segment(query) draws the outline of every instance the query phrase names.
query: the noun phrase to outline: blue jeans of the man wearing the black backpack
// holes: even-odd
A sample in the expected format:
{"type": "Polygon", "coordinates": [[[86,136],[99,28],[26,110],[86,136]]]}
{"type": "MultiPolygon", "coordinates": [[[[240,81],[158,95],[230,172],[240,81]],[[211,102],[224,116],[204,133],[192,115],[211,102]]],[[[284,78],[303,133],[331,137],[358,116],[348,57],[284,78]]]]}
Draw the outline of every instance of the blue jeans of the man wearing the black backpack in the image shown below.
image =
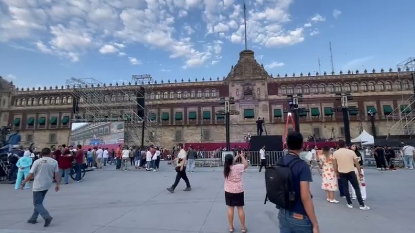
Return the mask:
{"type": "Polygon", "coordinates": [[[293,212],[280,209],[278,212],[280,233],[312,233],[313,224],[307,216],[302,219],[294,218],[293,212]]]}

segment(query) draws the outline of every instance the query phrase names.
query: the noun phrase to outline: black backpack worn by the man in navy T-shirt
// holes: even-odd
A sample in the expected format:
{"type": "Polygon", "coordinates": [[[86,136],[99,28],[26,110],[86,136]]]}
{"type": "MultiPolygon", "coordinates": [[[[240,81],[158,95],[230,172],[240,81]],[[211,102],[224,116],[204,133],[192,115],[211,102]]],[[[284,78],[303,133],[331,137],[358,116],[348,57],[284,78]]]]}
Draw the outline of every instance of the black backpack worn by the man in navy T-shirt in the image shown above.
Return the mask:
{"type": "Polygon", "coordinates": [[[296,193],[293,190],[293,180],[291,168],[302,160],[296,156],[288,164],[284,164],[284,157],[278,159],[277,166],[268,167],[265,169],[265,186],[267,200],[277,205],[277,208],[290,210],[296,198],[296,193]]]}

